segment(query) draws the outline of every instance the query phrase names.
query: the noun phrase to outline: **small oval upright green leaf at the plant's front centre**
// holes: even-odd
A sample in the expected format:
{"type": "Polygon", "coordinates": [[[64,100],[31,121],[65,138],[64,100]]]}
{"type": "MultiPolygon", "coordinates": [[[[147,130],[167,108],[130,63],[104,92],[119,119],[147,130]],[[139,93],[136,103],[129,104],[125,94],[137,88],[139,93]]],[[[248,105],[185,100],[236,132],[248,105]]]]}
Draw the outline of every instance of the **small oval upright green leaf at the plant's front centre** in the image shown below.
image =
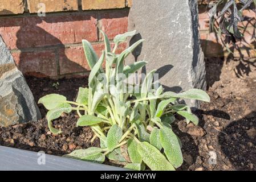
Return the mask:
{"type": "Polygon", "coordinates": [[[123,131],[118,125],[111,126],[107,134],[107,146],[110,151],[112,151],[117,146],[122,136],[123,131]]]}

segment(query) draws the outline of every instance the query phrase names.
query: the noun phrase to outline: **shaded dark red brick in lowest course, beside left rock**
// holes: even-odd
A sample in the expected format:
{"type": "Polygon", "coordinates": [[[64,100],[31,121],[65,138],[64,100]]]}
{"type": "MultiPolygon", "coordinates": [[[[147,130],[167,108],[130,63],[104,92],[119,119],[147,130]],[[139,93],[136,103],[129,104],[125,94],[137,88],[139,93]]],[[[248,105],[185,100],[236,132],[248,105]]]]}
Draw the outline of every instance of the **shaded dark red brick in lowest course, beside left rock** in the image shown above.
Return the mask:
{"type": "Polygon", "coordinates": [[[19,70],[25,75],[36,77],[57,76],[54,50],[12,53],[19,70]]]}

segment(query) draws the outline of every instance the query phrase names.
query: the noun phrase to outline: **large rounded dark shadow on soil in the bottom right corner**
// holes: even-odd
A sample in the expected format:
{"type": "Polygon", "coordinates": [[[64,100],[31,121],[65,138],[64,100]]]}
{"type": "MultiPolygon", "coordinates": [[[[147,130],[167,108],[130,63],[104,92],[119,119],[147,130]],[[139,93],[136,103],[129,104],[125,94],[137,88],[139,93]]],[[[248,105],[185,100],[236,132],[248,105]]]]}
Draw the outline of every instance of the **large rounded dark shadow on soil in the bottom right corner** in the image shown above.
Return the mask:
{"type": "Polygon", "coordinates": [[[256,166],[255,117],[256,111],[246,115],[245,118],[231,122],[219,135],[221,150],[238,170],[256,166]]]}

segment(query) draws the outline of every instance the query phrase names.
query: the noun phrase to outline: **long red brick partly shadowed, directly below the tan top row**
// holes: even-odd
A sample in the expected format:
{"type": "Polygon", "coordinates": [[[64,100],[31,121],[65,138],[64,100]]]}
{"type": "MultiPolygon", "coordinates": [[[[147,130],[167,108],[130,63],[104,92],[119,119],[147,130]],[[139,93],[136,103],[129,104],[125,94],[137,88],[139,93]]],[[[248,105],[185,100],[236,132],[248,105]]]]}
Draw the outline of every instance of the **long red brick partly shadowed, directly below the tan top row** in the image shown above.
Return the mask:
{"type": "Polygon", "coordinates": [[[3,18],[0,34],[10,49],[97,40],[96,13],[3,18]]]}

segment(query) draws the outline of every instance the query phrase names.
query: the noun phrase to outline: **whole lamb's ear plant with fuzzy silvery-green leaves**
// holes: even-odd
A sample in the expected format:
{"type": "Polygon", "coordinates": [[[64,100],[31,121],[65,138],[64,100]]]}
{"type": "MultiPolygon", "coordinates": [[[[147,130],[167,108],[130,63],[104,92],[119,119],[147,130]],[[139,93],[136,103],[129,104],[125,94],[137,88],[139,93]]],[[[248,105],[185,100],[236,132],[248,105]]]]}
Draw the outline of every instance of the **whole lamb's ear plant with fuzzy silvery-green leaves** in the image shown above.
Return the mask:
{"type": "Polygon", "coordinates": [[[164,92],[162,86],[153,88],[153,73],[148,73],[139,87],[129,84],[130,92],[125,90],[127,78],[147,64],[139,61],[124,65],[124,59],[144,40],[139,40],[120,55],[116,48],[136,31],[117,35],[115,47],[104,32],[105,50],[97,57],[87,40],[83,47],[91,67],[88,88],[79,88],[75,102],[59,94],[50,94],[40,98],[47,113],[50,131],[60,134],[52,126],[52,121],[62,113],[76,111],[79,119],[77,126],[90,126],[95,138],[100,139],[100,147],[76,150],[64,155],[67,158],[103,163],[106,158],[124,164],[125,168],[144,170],[174,170],[183,162],[181,142],[174,134],[171,124],[174,114],[182,115],[186,122],[198,124],[198,118],[189,106],[178,104],[178,100],[192,99],[209,102],[210,98],[203,90],[191,89],[186,92],[164,92]],[[105,68],[103,62],[105,61],[105,68]],[[125,152],[126,151],[126,152],[125,152]]]}

